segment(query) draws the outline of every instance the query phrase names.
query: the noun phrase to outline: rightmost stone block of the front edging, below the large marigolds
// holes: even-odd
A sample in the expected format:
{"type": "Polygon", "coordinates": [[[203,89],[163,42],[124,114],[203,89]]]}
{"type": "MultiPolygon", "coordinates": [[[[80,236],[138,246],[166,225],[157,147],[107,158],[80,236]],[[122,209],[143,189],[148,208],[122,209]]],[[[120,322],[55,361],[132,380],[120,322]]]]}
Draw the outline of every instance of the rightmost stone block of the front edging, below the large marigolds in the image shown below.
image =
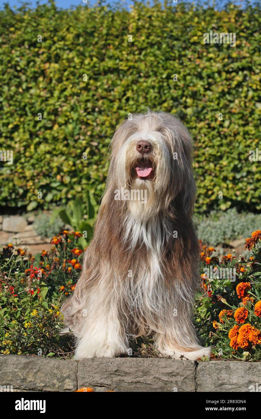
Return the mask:
{"type": "Polygon", "coordinates": [[[260,378],[261,362],[204,361],[196,370],[197,391],[249,392],[260,378]]]}

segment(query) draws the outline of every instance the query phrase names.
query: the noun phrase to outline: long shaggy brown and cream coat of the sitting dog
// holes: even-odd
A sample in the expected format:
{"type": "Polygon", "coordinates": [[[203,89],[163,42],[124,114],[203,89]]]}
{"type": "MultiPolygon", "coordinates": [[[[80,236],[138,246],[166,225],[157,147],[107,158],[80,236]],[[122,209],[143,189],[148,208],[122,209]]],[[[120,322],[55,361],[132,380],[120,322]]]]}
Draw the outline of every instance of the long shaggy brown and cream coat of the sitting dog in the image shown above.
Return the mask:
{"type": "Polygon", "coordinates": [[[75,358],[117,357],[127,353],[129,336],[148,334],[160,356],[209,356],[192,323],[199,246],[189,132],[170,114],[148,111],[120,125],[111,149],[93,240],[75,292],[62,307],[77,336],[75,358]],[[151,179],[134,171],[139,140],[151,145],[143,155],[152,162],[151,179]],[[121,187],[146,189],[147,202],[115,200],[121,187]]]}

